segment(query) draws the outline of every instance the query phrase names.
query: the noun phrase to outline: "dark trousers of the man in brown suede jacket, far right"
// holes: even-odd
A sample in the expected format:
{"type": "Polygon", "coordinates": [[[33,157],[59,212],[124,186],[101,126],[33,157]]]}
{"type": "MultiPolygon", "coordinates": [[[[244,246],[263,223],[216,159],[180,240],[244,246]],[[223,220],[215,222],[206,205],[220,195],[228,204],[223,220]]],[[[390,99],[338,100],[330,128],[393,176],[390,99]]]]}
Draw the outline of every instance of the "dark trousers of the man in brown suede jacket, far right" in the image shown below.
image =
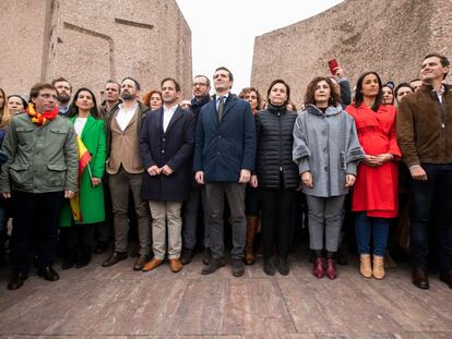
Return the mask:
{"type": "Polygon", "coordinates": [[[412,180],[411,243],[413,267],[426,269],[429,228],[437,233],[440,269],[452,270],[452,165],[421,164],[428,180],[412,180]]]}

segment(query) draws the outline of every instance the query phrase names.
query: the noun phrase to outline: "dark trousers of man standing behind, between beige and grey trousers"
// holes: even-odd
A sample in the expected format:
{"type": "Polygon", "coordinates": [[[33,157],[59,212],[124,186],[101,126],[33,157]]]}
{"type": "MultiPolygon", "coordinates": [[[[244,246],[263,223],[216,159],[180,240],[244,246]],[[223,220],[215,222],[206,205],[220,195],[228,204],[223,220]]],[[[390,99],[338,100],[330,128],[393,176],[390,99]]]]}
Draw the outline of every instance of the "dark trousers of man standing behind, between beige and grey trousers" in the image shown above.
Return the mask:
{"type": "Polygon", "coordinates": [[[211,246],[209,242],[209,211],[205,189],[192,187],[183,210],[183,247],[189,250],[193,250],[197,244],[198,215],[201,202],[203,206],[204,247],[209,249],[211,246]]]}

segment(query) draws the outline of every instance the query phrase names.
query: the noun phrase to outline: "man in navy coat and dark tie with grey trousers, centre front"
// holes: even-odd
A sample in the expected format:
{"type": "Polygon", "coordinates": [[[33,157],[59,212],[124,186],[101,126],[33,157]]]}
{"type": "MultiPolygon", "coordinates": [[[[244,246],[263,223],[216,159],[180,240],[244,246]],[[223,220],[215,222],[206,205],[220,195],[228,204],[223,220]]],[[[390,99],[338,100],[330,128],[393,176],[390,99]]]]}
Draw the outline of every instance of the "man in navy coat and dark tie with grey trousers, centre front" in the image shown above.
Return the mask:
{"type": "Polygon", "coordinates": [[[233,275],[245,274],[246,235],[245,186],[254,169],[255,125],[250,105],[230,94],[233,73],[215,70],[216,94],[198,117],[193,170],[195,180],[205,183],[212,259],[203,268],[209,275],[225,265],[223,209],[226,194],[233,223],[233,275]]]}

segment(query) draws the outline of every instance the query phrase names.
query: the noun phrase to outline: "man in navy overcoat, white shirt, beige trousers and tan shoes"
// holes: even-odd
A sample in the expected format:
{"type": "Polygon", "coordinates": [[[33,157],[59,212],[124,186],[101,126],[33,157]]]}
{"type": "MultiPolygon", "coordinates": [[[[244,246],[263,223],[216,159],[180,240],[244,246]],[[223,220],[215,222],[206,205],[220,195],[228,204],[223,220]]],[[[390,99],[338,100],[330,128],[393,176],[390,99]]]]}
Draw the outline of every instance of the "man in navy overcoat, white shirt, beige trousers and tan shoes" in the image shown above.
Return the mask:
{"type": "Polygon", "coordinates": [[[168,257],[171,271],[182,269],[182,219],[180,209],[191,187],[191,158],[194,144],[194,116],[177,105],[179,84],[170,77],[162,81],[164,106],[146,118],[140,133],[140,154],[146,171],[141,196],[148,201],[153,217],[154,257],[143,270],[159,266],[166,254],[168,221],[168,257]]]}

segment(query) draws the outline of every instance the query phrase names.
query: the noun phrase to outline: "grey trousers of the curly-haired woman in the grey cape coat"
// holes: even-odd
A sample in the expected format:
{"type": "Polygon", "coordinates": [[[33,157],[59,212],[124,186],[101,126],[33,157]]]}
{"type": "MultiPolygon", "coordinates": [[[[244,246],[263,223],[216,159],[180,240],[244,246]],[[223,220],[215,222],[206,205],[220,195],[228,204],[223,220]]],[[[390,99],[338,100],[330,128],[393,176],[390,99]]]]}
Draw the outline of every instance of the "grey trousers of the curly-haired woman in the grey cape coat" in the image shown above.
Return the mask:
{"type": "Polygon", "coordinates": [[[308,203],[310,249],[337,252],[345,195],[332,197],[306,195],[306,199],[308,203]]]}

